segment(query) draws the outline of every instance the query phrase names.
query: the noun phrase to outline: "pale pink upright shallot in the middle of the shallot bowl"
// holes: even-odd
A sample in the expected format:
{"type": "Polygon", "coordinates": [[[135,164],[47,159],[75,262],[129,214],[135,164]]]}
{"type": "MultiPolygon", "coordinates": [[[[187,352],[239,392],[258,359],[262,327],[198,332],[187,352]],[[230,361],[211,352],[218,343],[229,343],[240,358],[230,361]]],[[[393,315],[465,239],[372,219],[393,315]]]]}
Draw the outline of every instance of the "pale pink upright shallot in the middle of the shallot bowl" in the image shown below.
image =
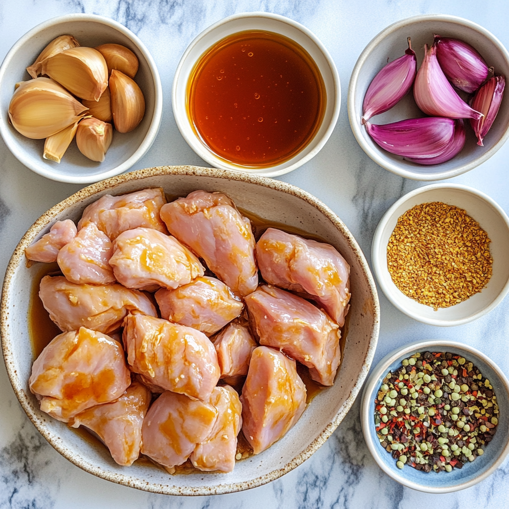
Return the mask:
{"type": "Polygon", "coordinates": [[[425,57],[417,71],[414,82],[414,97],[417,106],[433,117],[450,119],[479,119],[478,111],[472,109],[455,92],[440,69],[436,55],[436,46],[428,50],[424,45],[425,57]]]}

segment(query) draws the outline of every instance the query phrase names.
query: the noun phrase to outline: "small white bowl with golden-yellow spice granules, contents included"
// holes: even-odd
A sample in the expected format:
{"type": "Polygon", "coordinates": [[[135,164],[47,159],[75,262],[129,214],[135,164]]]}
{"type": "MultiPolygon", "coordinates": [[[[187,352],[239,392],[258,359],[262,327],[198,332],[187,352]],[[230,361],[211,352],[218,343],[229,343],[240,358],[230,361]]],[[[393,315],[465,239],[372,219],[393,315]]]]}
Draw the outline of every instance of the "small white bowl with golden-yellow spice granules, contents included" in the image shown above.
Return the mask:
{"type": "Polygon", "coordinates": [[[372,243],[374,272],[400,311],[430,325],[462,325],[509,292],[509,218],[461,184],[415,189],[384,214],[372,243]]]}

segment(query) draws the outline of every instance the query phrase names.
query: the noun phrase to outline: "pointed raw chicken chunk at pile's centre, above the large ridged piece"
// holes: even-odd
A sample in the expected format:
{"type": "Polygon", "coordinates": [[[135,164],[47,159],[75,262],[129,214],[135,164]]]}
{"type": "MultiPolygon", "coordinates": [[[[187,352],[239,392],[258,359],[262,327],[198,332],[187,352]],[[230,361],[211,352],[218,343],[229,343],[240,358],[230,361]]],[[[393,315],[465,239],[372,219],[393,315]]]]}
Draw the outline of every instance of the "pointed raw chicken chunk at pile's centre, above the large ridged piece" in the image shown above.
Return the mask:
{"type": "Polygon", "coordinates": [[[244,304],[215,277],[197,277],[176,290],[155,294],[161,316],[210,335],[237,318],[244,304]]]}

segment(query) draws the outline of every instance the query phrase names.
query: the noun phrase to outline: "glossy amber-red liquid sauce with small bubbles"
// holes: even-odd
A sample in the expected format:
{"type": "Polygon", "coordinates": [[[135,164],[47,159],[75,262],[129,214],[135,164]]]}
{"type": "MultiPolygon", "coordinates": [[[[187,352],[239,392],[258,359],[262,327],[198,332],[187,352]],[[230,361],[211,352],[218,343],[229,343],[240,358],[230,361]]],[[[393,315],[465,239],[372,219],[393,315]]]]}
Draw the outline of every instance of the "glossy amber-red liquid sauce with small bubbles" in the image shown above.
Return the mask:
{"type": "Polygon", "coordinates": [[[194,66],[186,91],[193,129],[241,166],[291,159],[318,132],[326,106],[317,64],[295,41],[265,31],[230,35],[194,66]]]}

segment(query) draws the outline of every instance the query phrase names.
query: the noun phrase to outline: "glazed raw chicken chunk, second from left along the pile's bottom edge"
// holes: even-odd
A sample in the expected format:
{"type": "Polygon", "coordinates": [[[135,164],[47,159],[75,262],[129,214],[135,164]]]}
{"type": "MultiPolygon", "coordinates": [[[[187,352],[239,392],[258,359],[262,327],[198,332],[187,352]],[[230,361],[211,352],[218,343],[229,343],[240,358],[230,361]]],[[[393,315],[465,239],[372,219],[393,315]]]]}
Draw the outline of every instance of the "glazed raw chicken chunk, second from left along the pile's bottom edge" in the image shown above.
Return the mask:
{"type": "Polygon", "coordinates": [[[217,410],[184,394],[163,392],[142,426],[142,453],[165,467],[184,463],[211,433],[217,410]]]}

